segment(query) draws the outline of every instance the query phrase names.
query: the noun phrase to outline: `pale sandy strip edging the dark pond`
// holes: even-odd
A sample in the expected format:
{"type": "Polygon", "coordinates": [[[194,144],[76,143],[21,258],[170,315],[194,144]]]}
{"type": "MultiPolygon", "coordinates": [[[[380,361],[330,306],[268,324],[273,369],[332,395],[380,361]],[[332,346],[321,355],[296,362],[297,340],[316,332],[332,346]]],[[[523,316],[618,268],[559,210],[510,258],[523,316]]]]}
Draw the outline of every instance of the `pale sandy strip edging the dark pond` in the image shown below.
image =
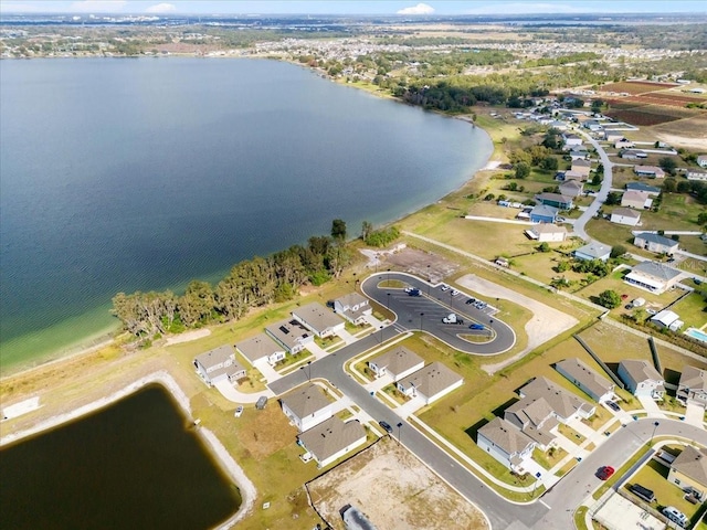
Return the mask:
{"type": "MultiPolygon", "coordinates": [[[[73,411],[57,414],[52,416],[43,422],[38,423],[31,428],[8,434],[7,436],[0,437],[0,447],[24,439],[29,436],[35,435],[43,431],[48,431],[50,428],[62,425],[66,422],[71,422],[73,420],[80,418],[86,414],[98,411],[101,409],[110,405],[133,393],[146,386],[148,384],[158,383],[165,386],[169,393],[172,395],[175,401],[179,404],[183,413],[191,418],[191,406],[189,404],[189,398],[182,391],[182,389],[177,384],[177,382],[172,379],[169,373],[166,371],[158,371],[145,375],[130,384],[124,386],[123,389],[114,392],[109,395],[106,395],[99,400],[96,400],[86,405],[80,406],[73,411]]],[[[219,438],[209,430],[200,427],[198,430],[199,435],[204,441],[205,445],[209,447],[213,456],[218,459],[221,467],[229,474],[232,480],[238,485],[239,490],[241,492],[242,504],[233,516],[231,516],[226,521],[222,522],[219,528],[231,528],[239,520],[241,520],[253,507],[253,502],[255,501],[255,497],[257,491],[253,483],[247,478],[245,471],[236,464],[236,462],[231,457],[226,448],[219,441],[219,438]]]]}

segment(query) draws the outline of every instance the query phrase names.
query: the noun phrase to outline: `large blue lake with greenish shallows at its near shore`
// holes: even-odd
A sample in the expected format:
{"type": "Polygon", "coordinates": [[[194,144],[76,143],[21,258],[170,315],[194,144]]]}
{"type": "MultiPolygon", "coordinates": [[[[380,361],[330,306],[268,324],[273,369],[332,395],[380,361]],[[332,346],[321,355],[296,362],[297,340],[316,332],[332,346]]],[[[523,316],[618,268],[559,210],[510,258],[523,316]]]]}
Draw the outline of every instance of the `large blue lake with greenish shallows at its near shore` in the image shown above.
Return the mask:
{"type": "Polygon", "coordinates": [[[391,222],[492,152],[471,125],[266,60],[0,61],[3,373],[115,328],[118,292],[217,282],[391,222]]]}

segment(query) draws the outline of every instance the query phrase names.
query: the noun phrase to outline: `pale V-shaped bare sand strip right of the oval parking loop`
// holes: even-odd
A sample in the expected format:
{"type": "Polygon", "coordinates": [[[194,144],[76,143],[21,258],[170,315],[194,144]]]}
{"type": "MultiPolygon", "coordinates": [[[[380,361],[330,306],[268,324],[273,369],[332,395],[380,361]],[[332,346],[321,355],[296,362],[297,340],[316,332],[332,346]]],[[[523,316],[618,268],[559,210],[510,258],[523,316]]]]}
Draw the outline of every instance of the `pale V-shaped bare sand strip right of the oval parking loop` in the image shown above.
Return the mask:
{"type": "Polygon", "coordinates": [[[502,298],[510,300],[519,306],[532,311],[532,318],[526,324],[525,330],[528,335],[528,346],[518,354],[497,364],[484,364],[484,370],[488,373],[495,373],[498,370],[516,362],[529,351],[535,350],[538,346],[547,342],[551,338],[567,331],[577,326],[579,320],[570,317],[558,309],[553,309],[538,300],[534,300],[525,295],[520,295],[513,289],[503,287],[487,279],[479,278],[473,274],[462,276],[456,280],[457,284],[489,298],[502,298]]]}

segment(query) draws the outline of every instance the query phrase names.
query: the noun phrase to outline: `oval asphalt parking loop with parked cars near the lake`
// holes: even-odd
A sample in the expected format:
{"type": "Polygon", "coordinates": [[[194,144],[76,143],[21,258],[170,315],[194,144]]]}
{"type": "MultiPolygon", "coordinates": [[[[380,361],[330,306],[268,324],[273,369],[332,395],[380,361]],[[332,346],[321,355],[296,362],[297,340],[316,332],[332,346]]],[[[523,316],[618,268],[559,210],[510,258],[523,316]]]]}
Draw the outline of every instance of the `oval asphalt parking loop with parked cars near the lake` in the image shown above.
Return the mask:
{"type": "MultiPolygon", "coordinates": [[[[423,330],[435,336],[452,348],[465,353],[493,356],[509,350],[516,342],[516,333],[506,322],[496,319],[485,309],[477,309],[465,304],[467,295],[460,293],[452,296],[452,289],[443,292],[440,286],[432,286],[426,282],[403,273],[380,273],[369,276],[361,284],[366,296],[378,301],[395,314],[395,324],[411,331],[423,330]],[[403,289],[381,288],[379,284],[387,280],[403,282],[420,289],[421,296],[410,296],[403,289]],[[443,324],[442,318],[455,312],[464,319],[463,325],[443,324]],[[469,324],[477,322],[486,327],[485,330],[469,329],[469,324]],[[482,343],[468,342],[458,337],[464,335],[493,335],[493,340],[482,343]]],[[[489,301],[489,300],[484,300],[489,301]]]]}

